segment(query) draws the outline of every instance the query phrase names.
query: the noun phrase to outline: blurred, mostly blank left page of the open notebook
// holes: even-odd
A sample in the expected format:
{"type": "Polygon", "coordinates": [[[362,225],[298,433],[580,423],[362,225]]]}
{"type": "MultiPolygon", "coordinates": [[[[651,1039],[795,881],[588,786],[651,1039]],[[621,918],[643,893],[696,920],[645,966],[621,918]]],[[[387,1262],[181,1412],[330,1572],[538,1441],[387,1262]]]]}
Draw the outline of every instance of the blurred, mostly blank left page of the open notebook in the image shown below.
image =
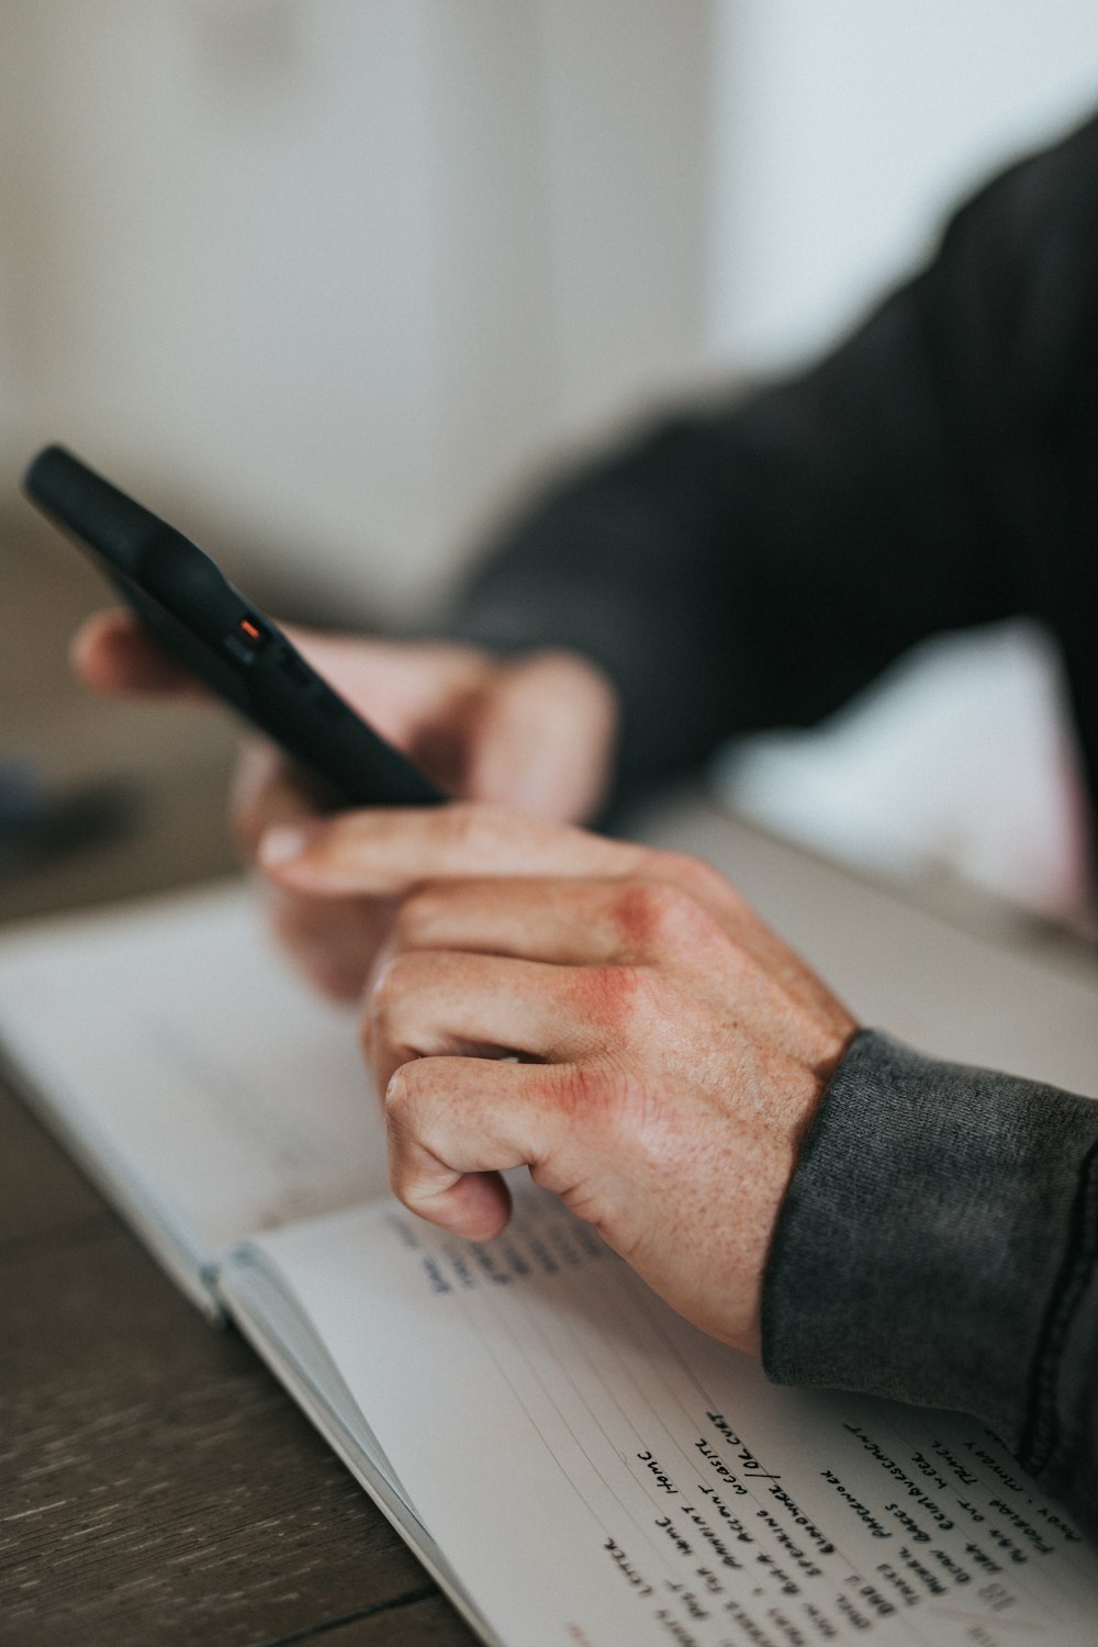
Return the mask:
{"type": "Polygon", "coordinates": [[[288,973],[244,886],[5,937],[0,1039],[109,1192],[199,1267],[385,1189],[354,1015],[288,973]]]}

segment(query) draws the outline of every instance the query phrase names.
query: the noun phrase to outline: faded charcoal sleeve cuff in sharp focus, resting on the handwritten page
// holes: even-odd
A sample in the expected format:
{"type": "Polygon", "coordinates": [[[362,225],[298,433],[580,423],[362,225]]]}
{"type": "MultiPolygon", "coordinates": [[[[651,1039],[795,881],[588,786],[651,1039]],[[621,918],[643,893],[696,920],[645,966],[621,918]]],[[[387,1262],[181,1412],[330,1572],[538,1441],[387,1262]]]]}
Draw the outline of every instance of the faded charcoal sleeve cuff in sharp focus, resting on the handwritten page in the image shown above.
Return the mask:
{"type": "Polygon", "coordinates": [[[1098,1537],[1098,1103],[863,1033],[764,1291],[764,1365],[966,1411],[1098,1537]]]}

